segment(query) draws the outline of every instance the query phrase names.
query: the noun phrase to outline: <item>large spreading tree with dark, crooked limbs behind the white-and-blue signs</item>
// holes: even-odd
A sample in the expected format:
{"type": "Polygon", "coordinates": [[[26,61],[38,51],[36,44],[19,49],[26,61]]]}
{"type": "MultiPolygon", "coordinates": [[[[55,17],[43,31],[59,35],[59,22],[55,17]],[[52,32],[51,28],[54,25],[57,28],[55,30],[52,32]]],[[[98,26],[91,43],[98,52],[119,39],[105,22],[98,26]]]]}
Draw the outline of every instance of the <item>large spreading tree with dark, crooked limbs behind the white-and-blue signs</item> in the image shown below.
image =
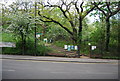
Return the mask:
{"type": "Polygon", "coordinates": [[[82,21],[83,19],[94,10],[95,6],[88,2],[81,2],[79,0],[59,0],[58,3],[51,3],[47,1],[41,4],[38,11],[40,20],[43,22],[54,22],[66,30],[75,44],[78,46],[78,57],[80,57],[80,44],[82,40],[82,21]],[[54,10],[59,10],[61,13],[54,13],[54,10]],[[62,20],[65,22],[62,23],[62,20]],[[65,26],[67,23],[67,26],[65,26]]]}

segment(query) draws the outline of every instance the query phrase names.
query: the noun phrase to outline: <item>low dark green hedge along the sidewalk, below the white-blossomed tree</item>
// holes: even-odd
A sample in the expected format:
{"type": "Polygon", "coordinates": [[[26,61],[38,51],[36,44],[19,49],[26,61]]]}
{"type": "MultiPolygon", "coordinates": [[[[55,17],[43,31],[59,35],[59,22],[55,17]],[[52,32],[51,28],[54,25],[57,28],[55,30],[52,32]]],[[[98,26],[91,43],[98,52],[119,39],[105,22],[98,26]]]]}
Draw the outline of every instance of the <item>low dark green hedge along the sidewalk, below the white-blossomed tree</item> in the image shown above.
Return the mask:
{"type": "MultiPolygon", "coordinates": [[[[36,55],[41,56],[47,54],[51,49],[44,46],[44,44],[37,44],[37,49],[36,49],[36,55]]],[[[18,41],[16,43],[16,47],[4,47],[2,48],[2,53],[3,54],[17,54],[21,55],[22,54],[22,42],[18,41]]],[[[34,55],[35,54],[35,47],[34,47],[34,41],[27,40],[26,42],[26,47],[25,47],[25,55],[34,55]]]]}

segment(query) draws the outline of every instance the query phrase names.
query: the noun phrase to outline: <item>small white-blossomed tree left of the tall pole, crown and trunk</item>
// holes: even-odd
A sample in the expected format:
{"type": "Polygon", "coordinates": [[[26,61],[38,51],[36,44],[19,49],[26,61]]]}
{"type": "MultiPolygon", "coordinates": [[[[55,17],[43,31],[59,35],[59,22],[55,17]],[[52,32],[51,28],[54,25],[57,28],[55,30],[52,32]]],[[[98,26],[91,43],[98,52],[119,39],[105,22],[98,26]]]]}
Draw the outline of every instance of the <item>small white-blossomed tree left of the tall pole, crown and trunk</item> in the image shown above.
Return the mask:
{"type": "MultiPolygon", "coordinates": [[[[28,2],[29,3],[29,2],[28,2]]],[[[22,42],[22,54],[25,53],[26,40],[29,37],[30,33],[33,30],[33,21],[31,16],[28,13],[27,2],[13,3],[10,5],[9,18],[11,19],[11,24],[8,27],[8,30],[13,32],[17,38],[22,42]],[[23,7],[24,6],[24,7],[23,7]],[[21,8],[22,7],[22,8],[21,8]],[[21,9],[20,9],[21,8],[21,9]],[[25,11],[23,11],[25,10],[25,11]]]]}

